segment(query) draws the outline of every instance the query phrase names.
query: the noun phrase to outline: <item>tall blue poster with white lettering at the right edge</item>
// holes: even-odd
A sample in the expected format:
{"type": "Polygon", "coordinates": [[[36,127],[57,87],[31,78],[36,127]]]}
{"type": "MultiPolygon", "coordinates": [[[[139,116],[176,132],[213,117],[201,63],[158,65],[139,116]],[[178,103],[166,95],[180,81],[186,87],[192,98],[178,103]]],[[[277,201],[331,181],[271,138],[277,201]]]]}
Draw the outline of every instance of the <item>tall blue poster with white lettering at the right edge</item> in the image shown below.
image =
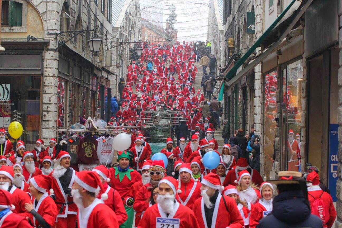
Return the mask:
{"type": "Polygon", "coordinates": [[[336,181],[338,179],[338,128],[339,125],[334,123],[330,124],[329,131],[329,175],[328,175],[328,188],[332,201],[336,202],[336,181]]]}

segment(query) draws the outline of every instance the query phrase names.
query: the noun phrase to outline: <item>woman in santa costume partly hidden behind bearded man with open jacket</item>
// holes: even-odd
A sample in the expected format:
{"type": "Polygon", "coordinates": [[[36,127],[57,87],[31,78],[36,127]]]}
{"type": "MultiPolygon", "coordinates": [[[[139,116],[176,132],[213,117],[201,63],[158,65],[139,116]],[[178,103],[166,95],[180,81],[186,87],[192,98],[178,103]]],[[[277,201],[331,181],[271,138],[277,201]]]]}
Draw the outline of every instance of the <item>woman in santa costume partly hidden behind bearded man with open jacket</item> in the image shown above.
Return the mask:
{"type": "Polygon", "coordinates": [[[253,208],[253,204],[242,201],[239,198],[236,186],[234,185],[226,186],[222,191],[222,195],[229,196],[235,200],[237,209],[239,209],[240,215],[242,219],[244,219],[244,228],[249,228],[249,217],[251,214],[251,209],[253,208]]]}

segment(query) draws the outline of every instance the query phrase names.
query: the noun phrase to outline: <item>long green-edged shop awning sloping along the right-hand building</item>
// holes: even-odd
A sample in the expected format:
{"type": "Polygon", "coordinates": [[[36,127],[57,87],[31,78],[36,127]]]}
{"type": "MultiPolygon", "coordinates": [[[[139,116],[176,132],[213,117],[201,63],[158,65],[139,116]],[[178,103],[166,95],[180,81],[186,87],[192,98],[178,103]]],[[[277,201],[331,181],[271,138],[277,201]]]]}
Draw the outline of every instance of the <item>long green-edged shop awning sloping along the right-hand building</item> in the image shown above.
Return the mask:
{"type": "Polygon", "coordinates": [[[237,69],[241,67],[241,65],[248,59],[248,57],[257,49],[264,39],[269,35],[269,33],[276,27],[276,25],[280,22],[280,20],[284,17],[284,15],[289,11],[291,6],[296,0],[292,0],[292,2],[286,7],[286,9],[277,17],[277,19],[269,26],[266,31],[261,35],[261,37],[251,46],[250,49],[240,58],[240,60],[234,65],[234,67],[229,70],[227,75],[224,76],[220,88],[219,88],[219,101],[223,99],[223,91],[224,84],[228,85],[228,89],[231,89],[243,76],[246,75],[251,69],[257,66],[261,61],[263,61],[269,54],[275,51],[277,46],[281,43],[284,38],[288,35],[289,31],[293,28],[293,26],[297,23],[300,17],[303,15],[308,6],[313,2],[313,0],[307,0],[305,4],[301,4],[297,9],[296,13],[294,13],[291,17],[291,21],[288,24],[285,31],[282,35],[268,48],[266,48],[261,54],[259,54],[256,58],[254,58],[249,65],[247,65],[244,69],[242,69],[236,76],[235,73],[237,69]],[[234,76],[234,77],[233,77],[234,76]],[[226,82],[226,80],[228,80],[226,82]]]}

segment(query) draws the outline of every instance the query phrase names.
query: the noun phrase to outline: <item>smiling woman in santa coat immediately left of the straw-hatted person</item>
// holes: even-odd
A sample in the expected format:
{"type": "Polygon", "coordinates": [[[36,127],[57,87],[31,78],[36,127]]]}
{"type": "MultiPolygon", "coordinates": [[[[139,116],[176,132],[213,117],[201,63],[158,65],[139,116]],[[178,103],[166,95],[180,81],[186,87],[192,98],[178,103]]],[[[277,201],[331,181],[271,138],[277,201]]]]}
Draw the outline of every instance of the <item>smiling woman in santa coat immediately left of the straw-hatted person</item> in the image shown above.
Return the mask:
{"type": "Polygon", "coordinates": [[[271,183],[264,182],[260,186],[261,199],[255,203],[249,218],[249,227],[255,228],[258,226],[259,221],[272,212],[273,209],[273,193],[274,189],[271,183]]]}

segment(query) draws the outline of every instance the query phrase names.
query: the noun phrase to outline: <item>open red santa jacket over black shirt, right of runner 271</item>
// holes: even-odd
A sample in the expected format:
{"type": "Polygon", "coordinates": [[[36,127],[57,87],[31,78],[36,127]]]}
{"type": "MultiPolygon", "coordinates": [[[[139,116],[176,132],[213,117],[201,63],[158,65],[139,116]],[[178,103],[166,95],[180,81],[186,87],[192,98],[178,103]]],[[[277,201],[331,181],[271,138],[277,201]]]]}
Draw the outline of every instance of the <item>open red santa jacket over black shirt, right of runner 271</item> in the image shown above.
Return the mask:
{"type": "MultiPolygon", "coordinates": [[[[201,197],[195,201],[193,211],[195,212],[195,215],[197,217],[199,228],[210,228],[207,227],[204,206],[204,201],[201,197]]],[[[240,215],[235,200],[219,193],[219,196],[216,198],[216,202],[214,205],[211,228],[241,228],[242,226],[244,226],[244,220],[240,215]],[[223,202],[223,197],[225,199],[227,207],[223,202]]]]}

